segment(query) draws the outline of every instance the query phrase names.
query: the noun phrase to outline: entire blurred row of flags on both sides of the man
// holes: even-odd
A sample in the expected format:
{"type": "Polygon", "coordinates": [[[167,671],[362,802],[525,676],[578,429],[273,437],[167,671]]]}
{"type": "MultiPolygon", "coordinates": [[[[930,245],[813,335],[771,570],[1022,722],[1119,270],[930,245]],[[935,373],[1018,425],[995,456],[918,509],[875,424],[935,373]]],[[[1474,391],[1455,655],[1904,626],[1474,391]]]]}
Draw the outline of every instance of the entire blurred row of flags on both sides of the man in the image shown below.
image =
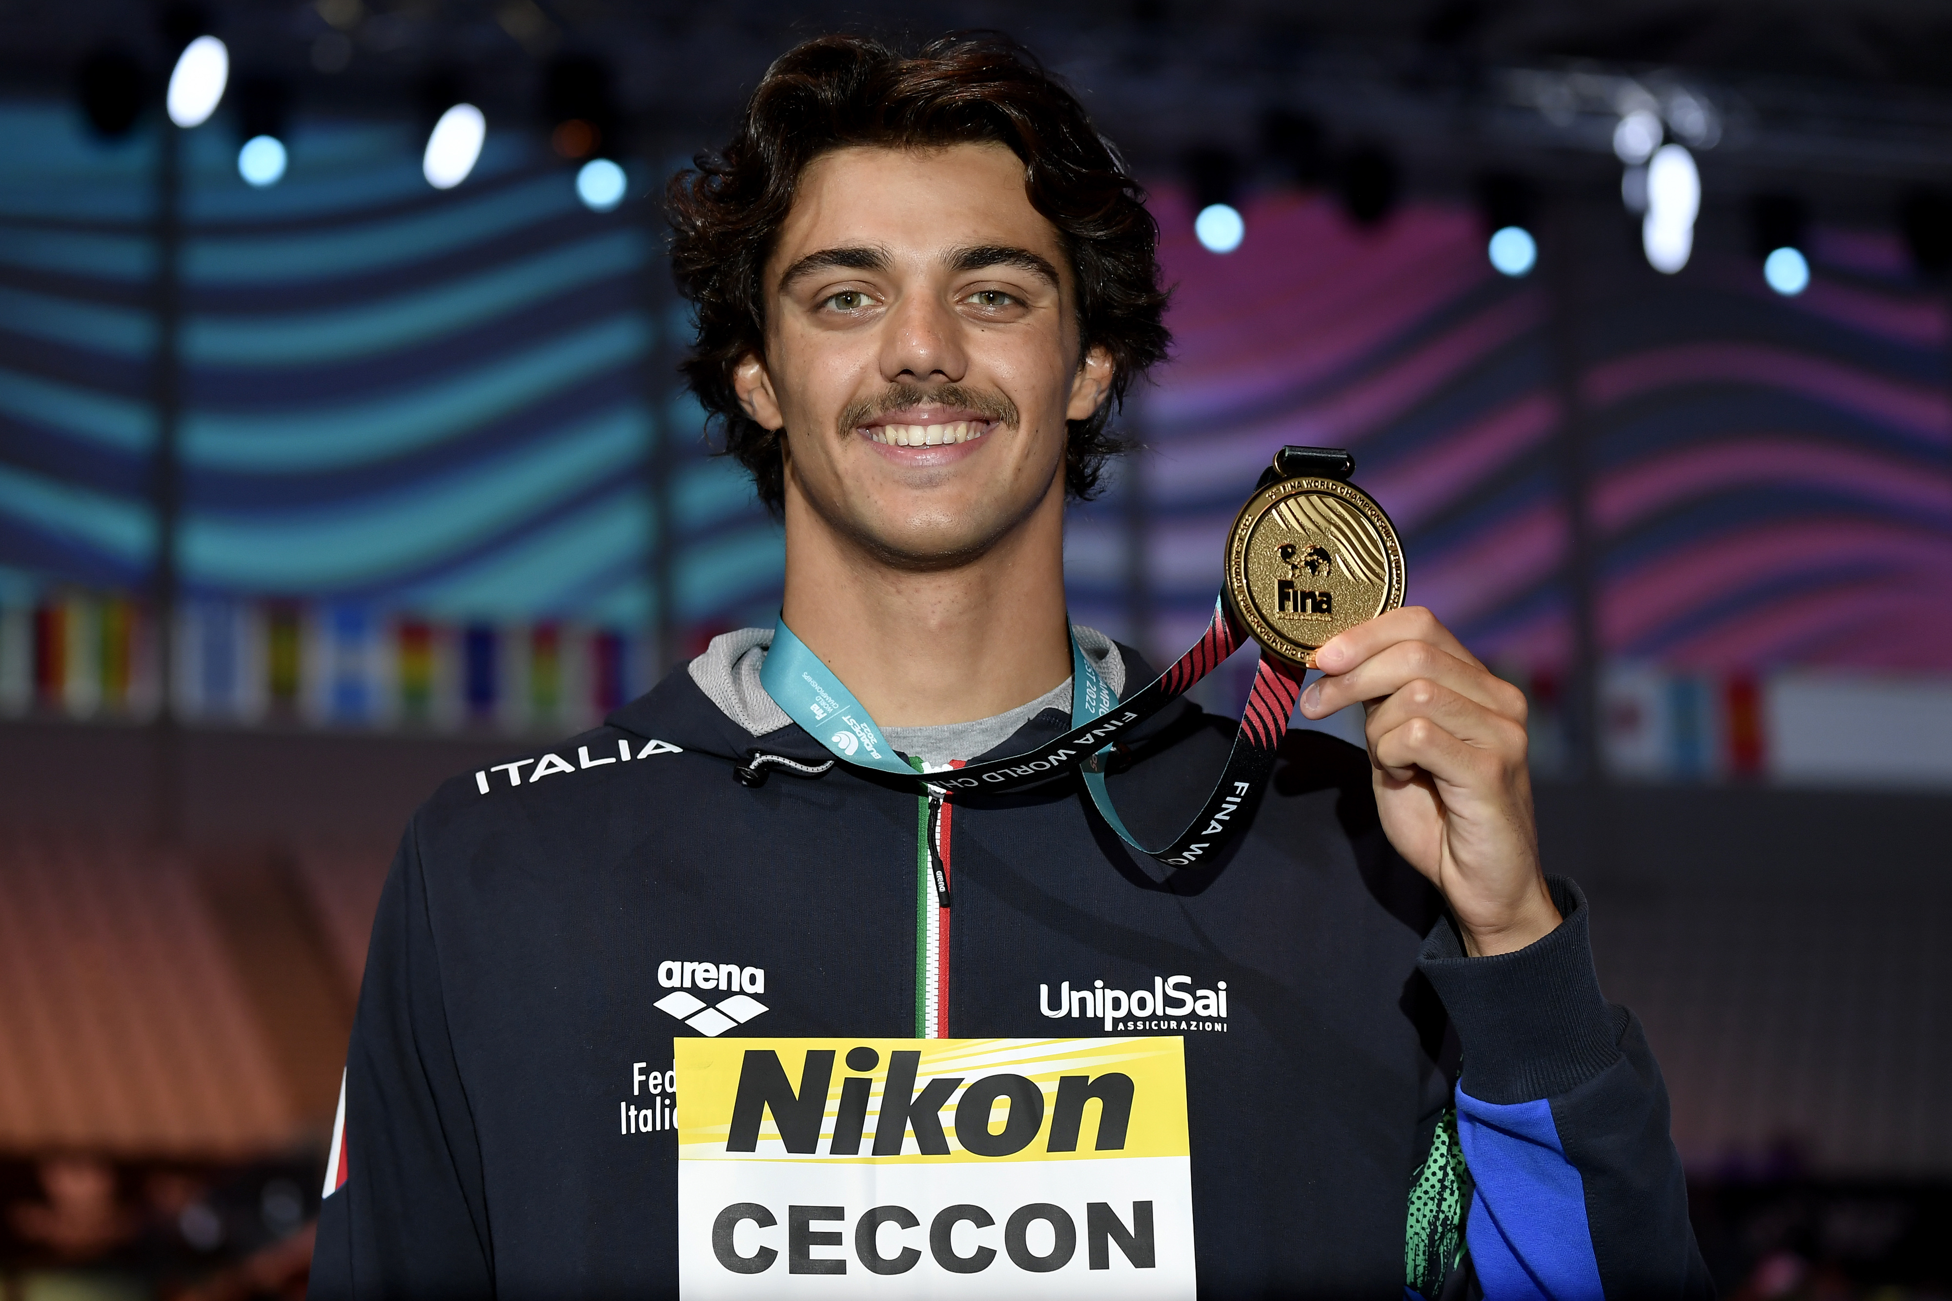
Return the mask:
{"type": "MultiPolygon", "coordinates": [[[[703,630],[699,644],[703,650],[703,630]]],[[[0,591],[0,716],[154,718],[152,611],[125,593],[0,591]]],[[[578,622],[467,622],[349,601],[195,599],[176,616],[172,702],[203,726],[564,735],[650,689],[650,638],[578,622]]],[[[1495,665],[1530,700],[1532,770],[1571,776],[1566,679],[1495,665]]],[[[1238,710],[1251,675],[1216,673],[1200,704],[1238,710]]],[[[1608,663],[1608,776],[1646,782],[1952,788],[1952,681],[1608,663]]],[[[1359,708],[1320,724],[1362,743],[1359,708]]]]}

